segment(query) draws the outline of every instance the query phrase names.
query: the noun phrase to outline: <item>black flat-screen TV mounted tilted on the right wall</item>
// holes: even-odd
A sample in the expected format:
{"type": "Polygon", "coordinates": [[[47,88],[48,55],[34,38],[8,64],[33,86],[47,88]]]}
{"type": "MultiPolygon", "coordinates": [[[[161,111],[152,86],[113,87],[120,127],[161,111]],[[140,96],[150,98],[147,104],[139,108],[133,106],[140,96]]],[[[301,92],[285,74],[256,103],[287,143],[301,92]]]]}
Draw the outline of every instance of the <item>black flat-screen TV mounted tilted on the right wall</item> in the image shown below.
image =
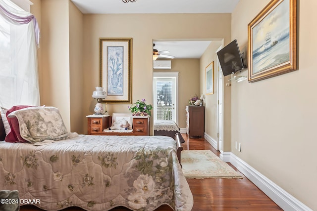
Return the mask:
{"type": "Polygon", "coordinates": [[[230,75],[245,68],[237,40],[224,46],[217,52],[223,76],[230,75]]]}

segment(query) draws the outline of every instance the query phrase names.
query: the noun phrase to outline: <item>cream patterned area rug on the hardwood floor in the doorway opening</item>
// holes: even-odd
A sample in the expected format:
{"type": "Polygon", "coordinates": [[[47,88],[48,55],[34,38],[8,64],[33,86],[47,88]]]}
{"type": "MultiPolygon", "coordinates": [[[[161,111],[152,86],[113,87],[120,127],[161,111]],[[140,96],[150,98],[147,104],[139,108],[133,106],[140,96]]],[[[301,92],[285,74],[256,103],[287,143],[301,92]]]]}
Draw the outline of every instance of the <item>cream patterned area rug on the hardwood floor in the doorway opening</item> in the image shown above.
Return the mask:
{"type": "Polygon", "coordinates": [[[184,150],[181,164],[187,178],[242,178],[210,150],[184,150]]]}

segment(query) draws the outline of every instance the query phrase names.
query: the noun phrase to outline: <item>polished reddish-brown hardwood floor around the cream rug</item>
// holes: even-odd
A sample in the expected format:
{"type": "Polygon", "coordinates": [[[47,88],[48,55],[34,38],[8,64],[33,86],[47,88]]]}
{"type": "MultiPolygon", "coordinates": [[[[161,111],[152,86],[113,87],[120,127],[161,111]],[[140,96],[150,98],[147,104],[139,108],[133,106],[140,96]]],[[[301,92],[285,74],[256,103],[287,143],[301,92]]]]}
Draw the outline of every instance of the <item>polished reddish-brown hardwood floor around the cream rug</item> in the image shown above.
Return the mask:
{"type": "MultiPolygon", "coordinates": [[[[211,150],[219,156],[205,139],[188,138],[183,134],[185,143],[184,150],[211,150]]],[[[228,163],[233,169],[230,163],[228,163]]],[[[238,170],[237,170],[238,171],[238,170]]],[[[249,179],[187,179],[194,196],[192,211],[282,211],[272,200],[270,200],[249,179]]],[[[42,211],[33,206],[22,206],[20,211],[42,211]]],[[[63,211],[83,211],[80,208],[68,208],[63,211]]],[[[111,211],[130,211],[119,207],[111,211]]],[[[166,205],[159,207],[156,211],[172,211],[166,205]]]]}

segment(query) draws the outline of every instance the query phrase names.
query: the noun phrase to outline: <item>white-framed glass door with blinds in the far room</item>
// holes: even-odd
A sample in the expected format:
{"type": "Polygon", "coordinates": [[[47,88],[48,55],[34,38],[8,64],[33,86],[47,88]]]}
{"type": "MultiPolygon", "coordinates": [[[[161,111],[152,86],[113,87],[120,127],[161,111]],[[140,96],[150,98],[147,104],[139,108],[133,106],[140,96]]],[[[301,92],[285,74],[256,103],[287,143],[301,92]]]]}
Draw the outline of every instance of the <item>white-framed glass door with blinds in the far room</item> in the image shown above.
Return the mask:
{"type": "Polygon", "coordinates": [[[154,72],[153,118],[178,124],[178,72],[154,72]]]}

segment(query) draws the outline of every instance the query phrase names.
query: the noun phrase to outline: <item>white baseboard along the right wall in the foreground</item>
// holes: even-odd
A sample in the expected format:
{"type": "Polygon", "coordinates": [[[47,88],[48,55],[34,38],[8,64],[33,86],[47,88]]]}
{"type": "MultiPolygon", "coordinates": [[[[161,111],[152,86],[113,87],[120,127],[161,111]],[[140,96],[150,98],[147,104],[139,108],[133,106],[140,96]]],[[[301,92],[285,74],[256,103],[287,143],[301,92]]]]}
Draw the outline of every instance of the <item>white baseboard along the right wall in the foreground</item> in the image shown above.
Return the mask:
{"type": "MultiPolygon", "coordinates": [[[[249,164],[238,158],[232,152],[220,152],[223,161],[230,162],[235,168],[243,173],[250,181],[260,188],[273,202],[285,211],[313,211],[298,199],[290,195],[274,182],[269,180],[249,164]]],[[[221,157],[220,157],[221,158],[221,157]]]]}

